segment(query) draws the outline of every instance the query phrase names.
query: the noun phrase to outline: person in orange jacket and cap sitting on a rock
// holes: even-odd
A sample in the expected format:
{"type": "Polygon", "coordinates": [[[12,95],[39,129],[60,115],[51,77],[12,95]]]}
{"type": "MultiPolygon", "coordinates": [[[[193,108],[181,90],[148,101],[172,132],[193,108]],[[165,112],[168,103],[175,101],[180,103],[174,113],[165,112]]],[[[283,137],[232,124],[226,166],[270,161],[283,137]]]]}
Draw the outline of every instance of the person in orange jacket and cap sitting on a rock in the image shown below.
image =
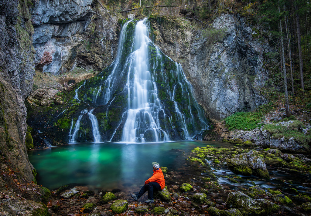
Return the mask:
{"type": "Polygon", "coordinates": [[[153,192],[154,191],[162,191],[165,187],[165,180],[163,172],[160,168],[160,164],[157,162],[152,162],[153,173],[150,178],[145,181],[144,186],[137,194],[131,194],[132,198],[137,201],[146,191],[148,191],[148,199],[145,201],[146,203],[153,203],[153,192]]]}

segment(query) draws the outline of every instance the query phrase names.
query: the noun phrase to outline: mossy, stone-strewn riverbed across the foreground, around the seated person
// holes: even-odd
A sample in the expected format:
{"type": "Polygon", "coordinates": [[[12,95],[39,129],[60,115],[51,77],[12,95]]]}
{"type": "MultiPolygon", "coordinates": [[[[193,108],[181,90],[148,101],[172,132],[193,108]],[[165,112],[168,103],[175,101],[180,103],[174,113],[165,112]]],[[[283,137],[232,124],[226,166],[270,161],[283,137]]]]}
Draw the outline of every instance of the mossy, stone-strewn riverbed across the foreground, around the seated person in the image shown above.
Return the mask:
{"type": "Polygon", "coordinates": [[[166,187],[146,204],[130,197],[133,182],[112,191],[68,185],[52,191],[48,211],[60,215],[310,215],[308,155],[238,145],[180,152],[165,172],[166,187]]]}

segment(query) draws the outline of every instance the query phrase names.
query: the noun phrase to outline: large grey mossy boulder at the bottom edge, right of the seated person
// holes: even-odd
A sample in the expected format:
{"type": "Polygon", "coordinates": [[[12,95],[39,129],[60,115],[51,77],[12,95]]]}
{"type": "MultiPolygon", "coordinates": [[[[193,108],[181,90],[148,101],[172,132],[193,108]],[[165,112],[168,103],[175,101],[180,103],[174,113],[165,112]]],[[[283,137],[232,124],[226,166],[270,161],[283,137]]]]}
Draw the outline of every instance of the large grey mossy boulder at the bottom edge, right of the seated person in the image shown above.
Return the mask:
{"type": "Polygon", "coordinates": [[[264,216],[272,211],[273,203],[268,200],[252,199],[241,191],[231,192],[228,195],[227,208],[239,209],[243,215],[264,216]]]}

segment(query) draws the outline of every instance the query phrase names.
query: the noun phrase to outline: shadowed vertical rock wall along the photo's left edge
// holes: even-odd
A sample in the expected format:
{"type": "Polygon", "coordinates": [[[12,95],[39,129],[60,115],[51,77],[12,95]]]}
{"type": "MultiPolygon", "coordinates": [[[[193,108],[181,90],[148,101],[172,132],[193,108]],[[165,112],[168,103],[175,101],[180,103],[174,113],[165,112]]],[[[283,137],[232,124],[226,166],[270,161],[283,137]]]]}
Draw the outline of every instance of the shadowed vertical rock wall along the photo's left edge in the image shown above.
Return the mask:
{"type": "MultiPolygon", "coordinates": [[[[25,7],[27,5],[18,7],[16,0],[0,2],[0,169],[6,170],[9,166],[17,171],[17,178],[31,181],[34,177],[25,146],[24,99],[33,83],[32,26],[27,23],[27,13],[18,11],[25,7]]],[[[5,182],[2,177],[0,188],[5,182]]]]}

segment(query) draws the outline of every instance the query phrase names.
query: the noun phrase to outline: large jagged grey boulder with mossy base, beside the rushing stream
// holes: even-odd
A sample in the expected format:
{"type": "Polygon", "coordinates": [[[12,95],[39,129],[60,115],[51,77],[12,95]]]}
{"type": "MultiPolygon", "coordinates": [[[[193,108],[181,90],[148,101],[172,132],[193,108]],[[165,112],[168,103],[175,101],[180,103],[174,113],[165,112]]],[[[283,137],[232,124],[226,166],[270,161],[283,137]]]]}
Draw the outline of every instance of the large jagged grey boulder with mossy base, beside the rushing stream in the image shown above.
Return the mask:
{"type": "Polygon", "coordinates": [[[232,158],[227,159],[227,166],[234,173],[269,178],[266,163],[255,150],[233,155],[232,158]]]}

